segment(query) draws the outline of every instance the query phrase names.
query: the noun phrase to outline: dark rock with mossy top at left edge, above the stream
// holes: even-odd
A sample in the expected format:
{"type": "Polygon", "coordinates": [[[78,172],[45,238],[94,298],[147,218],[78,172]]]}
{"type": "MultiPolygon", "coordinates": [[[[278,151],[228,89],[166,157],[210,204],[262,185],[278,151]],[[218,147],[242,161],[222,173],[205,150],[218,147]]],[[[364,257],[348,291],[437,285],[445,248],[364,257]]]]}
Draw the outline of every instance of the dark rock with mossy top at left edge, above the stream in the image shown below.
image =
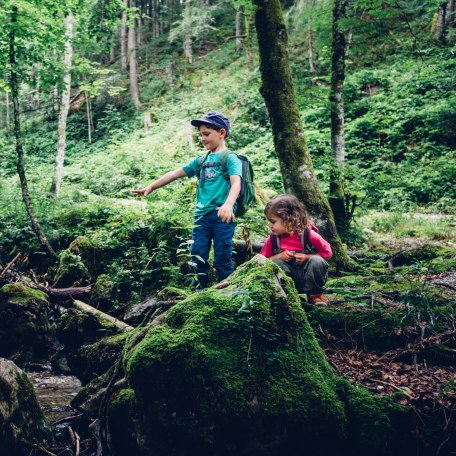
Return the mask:
{"type": "Polygon", "coordinates": [[[45,293],[20,284],[0,289],[0,355],[16,362],[45,356],[53,343],[45,293]]]}

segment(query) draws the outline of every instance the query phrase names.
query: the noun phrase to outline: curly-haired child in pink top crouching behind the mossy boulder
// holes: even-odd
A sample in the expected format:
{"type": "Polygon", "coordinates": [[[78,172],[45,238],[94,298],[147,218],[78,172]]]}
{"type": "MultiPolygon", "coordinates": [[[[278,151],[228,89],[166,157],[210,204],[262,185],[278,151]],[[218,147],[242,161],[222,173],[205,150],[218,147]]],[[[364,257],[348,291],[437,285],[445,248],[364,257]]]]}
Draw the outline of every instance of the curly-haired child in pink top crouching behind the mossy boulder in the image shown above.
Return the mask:
{"type": "Polygon", "coordinates": [[[260,254],[278,264],[290,276],[310,304],[326,305],[323,296],[328,278],[331,246],[319,234],[305,206],[293,195],[279,195],[264,209],[271,234],[260,254]]]}

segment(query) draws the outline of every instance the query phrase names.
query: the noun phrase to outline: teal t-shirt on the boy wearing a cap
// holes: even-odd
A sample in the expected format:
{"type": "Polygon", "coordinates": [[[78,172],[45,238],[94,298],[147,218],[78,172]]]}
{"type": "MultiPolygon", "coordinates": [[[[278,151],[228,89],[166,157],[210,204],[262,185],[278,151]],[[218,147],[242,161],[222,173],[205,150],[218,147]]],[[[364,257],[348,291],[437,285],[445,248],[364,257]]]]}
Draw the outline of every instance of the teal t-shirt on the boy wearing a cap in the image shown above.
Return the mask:
{"type": "MultiPolygon", "coordinates": [[[[220,156],[224,152],[226,152],[226,149],[225,151],[210,153],[204,163],[220,163],[220,156]]],[[[196,157],[182,167],[188,177],[196,176],[198,161],[200,159],[201,157],[196,157]]],[[[226,168],[230,176],[242,176],[241,160],[233,153],[227,156],[226,168]]],[[[198,185],[195,217],[200,217],[218,209],[225,203],[230,192],[230,182],[223,177],[221,166],[201,167],[201,172],[205,173],[205,181],[204,188],[200,188],[198,185]]],[[[233,209],[236,210],[236,207],[233,209]]]]}

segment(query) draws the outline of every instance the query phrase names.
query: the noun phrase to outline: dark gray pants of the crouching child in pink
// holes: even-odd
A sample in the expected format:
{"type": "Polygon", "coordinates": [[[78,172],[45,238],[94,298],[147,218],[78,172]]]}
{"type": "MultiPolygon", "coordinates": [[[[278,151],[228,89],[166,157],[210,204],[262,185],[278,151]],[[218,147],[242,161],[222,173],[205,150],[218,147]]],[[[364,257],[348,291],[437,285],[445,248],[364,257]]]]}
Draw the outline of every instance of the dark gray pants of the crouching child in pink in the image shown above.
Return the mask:
{"type": "Polygon", "coordinates": [[[295,261],[273,260],[293,279],[298,293],[321,293],[328,280],[328,263],[319,255],[313,255],[304,264],[295,261]]]}

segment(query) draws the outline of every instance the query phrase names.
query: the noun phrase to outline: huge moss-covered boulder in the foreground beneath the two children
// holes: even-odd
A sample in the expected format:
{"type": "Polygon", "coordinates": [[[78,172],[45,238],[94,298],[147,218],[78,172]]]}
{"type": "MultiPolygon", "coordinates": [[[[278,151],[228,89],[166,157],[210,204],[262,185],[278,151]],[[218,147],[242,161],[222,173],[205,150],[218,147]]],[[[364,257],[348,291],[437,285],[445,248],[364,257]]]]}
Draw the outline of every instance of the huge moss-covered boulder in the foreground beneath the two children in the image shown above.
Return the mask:
{"type": "MultiPolygon", "coordinates": [[[[127,422],[140,417],[141,454],[327,455],[353,446],[347,395],[292,281],[264,257],[238,268],[226,288],[175,305],[125,347],[123,363],[133,392],[111,407],[127,422]]],[[[366,426],[383,425],[377,418],[366,426]]],[[[380,432],[380,445],[359,448],[393,454],[385,440],[403,435],[380,432]]]]}

